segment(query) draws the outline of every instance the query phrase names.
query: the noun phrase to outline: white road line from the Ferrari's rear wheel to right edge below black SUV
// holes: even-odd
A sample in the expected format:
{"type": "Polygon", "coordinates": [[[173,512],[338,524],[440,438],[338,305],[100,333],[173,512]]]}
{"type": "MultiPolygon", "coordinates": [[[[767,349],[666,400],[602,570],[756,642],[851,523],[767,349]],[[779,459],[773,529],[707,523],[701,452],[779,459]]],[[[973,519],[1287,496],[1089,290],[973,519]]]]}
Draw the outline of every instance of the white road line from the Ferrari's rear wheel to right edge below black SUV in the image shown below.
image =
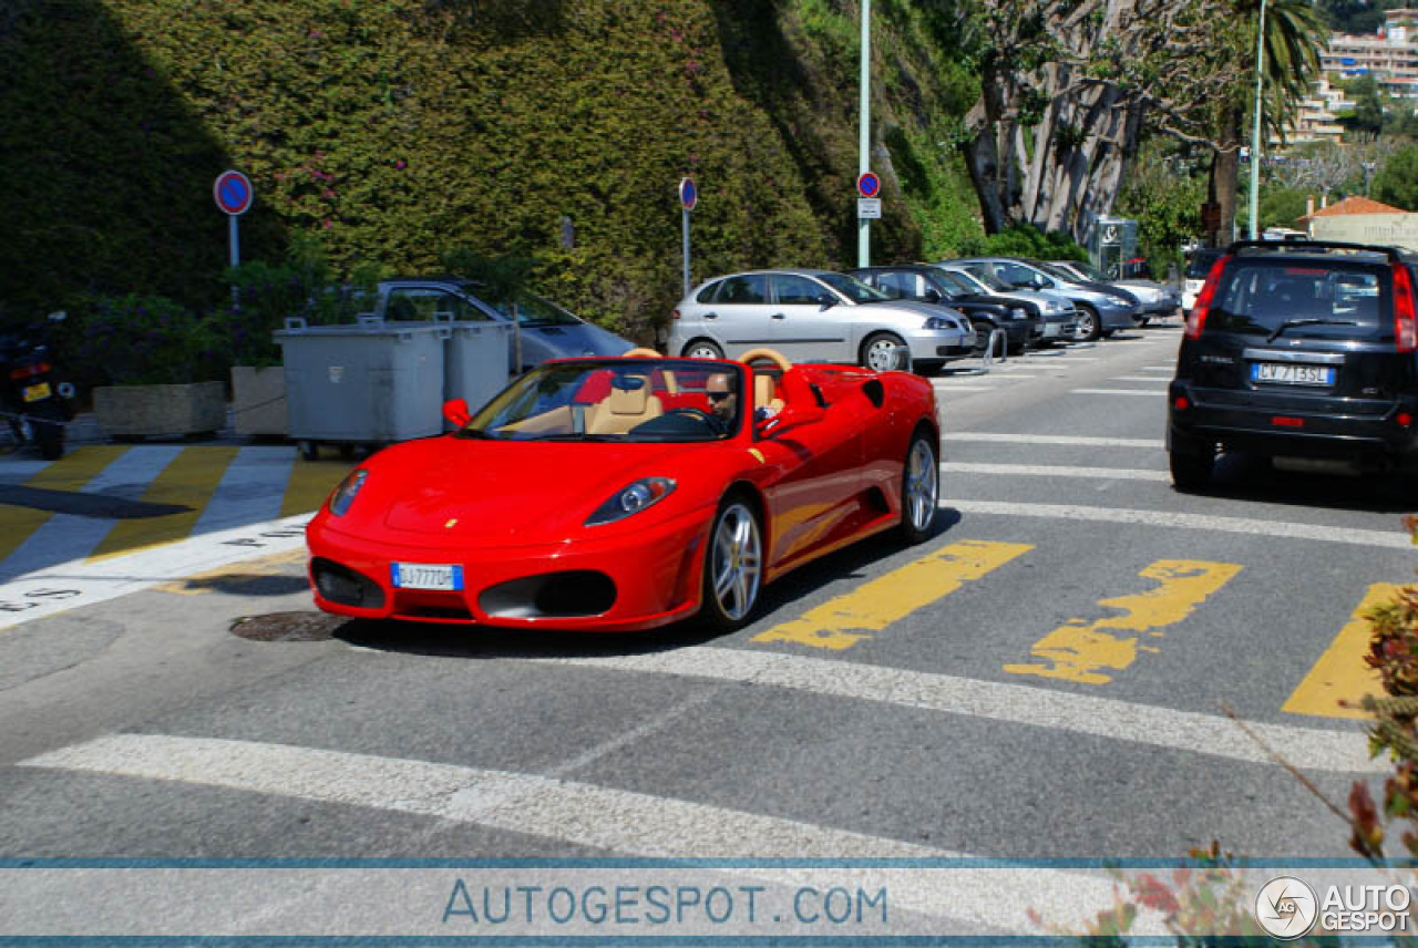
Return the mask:
{"type": "Polygon", "coordinates": [[[1326,527],[1314,523],[1283,523],[1251,520],[1248,517],[1214,517],[1197,513],[1167,513],[1163,510],[1127,510],[1119,507],[1081,507],[1059,503],[1027,503],[1020,500],[942,500],[942,507],[961,513],[1000,514],[1003,517],[1039,517],[1044,520],[1090,520],[1093,523],[1126,523],[1141,527],[1176,527],[1178,530],[1212,530],[1244,533],[1254,537],[1283,537],[1286,540],[1317,540],[1320,543],[1349,543],[1358,547],[1412,550],[1414,541],[1400,530],[1357,530],[1326,527]]]}

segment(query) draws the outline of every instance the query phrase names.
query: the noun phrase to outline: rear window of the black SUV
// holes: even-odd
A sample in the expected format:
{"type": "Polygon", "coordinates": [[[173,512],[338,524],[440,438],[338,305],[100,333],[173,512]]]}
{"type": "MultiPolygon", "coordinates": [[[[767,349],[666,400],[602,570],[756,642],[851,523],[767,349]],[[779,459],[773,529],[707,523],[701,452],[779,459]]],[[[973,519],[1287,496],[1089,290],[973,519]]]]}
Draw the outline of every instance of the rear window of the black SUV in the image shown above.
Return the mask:
{"type": "Polygon", "coordinates": [[[1205,332],[1286,337],[1374,339],[1392,333],[1388,266],[1357,261],[1231,261],[1205,332]],[[1314,322],[1312,322],[1314,320],[1314,322]],[[1282,329],[1283,327],[1283,329],[1282,329]]]}

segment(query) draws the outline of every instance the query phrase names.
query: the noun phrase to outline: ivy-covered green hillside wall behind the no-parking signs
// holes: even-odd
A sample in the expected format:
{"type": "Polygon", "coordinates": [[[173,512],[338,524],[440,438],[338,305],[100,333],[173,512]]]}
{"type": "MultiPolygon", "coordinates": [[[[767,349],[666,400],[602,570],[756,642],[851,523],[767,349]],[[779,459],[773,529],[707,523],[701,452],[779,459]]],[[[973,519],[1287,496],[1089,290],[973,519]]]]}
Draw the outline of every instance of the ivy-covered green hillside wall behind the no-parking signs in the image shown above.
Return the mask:
{"type": "MultiPolygon", "coordinates": [[[[873,4],[875,261],[980,234],[951,147],[978,94],[930,4],[873,4]]],[[[834,0],[26,0],[0,20],[0,307],[221,303],[221,170],[242,259],[313,235],[336,272],[444,252],[648,340],[696,279],[856,259],[858,11],[834,0]],[[564,224],[574,232],[563,245],[564,224]]]]}

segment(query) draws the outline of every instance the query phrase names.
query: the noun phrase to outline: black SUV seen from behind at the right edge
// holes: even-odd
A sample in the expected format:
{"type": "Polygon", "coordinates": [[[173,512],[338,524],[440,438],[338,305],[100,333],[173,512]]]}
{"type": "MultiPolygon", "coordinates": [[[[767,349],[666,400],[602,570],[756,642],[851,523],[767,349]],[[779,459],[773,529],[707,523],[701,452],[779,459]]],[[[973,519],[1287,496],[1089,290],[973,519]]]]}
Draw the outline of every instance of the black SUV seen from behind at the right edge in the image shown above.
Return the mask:
{"type": "Polygon", "coordinates": [[[1204,487],[1218,449],[1418,468],[1415,265],[1392,247],[1232,244],[1167,393],[1177,489],[1204,487]]]}

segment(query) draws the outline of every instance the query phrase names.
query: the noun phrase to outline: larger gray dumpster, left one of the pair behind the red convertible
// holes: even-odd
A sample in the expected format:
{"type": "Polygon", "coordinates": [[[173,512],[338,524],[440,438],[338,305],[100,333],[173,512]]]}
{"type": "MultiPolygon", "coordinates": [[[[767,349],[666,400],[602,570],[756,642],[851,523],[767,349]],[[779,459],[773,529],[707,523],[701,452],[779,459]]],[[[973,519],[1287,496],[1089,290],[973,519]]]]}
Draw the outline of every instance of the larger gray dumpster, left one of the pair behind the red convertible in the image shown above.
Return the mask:
{"type": "Polygon", "coordinates": [[[275,333],[285,364],[289,435],[313,461],[322,444],[343,452],[441,434],[448,326],[387,323],[306,326],[275,333]]]}

